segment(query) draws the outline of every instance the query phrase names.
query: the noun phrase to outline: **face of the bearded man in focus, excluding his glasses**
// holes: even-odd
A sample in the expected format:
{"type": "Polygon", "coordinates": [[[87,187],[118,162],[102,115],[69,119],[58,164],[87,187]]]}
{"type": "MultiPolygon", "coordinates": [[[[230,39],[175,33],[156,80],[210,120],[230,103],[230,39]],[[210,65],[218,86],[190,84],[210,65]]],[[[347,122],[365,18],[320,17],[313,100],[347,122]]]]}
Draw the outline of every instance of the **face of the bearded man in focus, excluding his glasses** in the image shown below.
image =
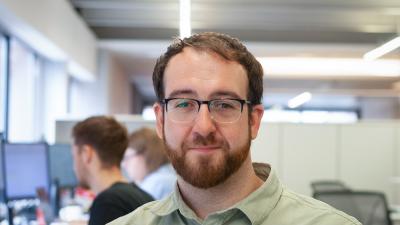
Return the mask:
{"type": "MultiPolygon", "coordinates": [[[[247,99],[248,79],[244,68],[216,54],[185,48],[174,56],[165,70],[166,98],[247,99]]],[[[239,120],[215,122],[203,104],[192,122],[174,122],[155,104],[157,131],[177,173],[199,188],[224,182],[243,162],[251,163],[250,142],[258,132],[263,113],[255,106],[249,120],[249,106],[239,120]]]]}

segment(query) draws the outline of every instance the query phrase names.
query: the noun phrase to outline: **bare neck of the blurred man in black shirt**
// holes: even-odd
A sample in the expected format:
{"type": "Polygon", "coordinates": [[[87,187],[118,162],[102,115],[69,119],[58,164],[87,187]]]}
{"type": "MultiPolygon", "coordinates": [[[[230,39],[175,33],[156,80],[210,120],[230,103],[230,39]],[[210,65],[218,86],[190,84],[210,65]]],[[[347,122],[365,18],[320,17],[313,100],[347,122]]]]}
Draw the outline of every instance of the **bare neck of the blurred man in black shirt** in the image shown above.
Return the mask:
{"type": "Polygon", "coordinates": [[[100,169],[92,174],[90,189],[97,195],[116,182],[127,182],[118,167],[100,169]]]}

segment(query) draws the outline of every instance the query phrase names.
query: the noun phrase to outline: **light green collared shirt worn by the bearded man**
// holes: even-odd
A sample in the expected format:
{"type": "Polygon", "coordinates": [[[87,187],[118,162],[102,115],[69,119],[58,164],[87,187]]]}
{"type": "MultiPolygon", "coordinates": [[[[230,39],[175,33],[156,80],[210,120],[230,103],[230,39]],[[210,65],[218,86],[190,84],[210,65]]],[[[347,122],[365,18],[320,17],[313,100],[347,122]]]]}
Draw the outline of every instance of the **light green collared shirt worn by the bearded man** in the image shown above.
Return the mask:
{"type": "Polygon", "coordinates": [[[201,220],[185,204],[176,188],[164,200],[147,203],[107,225],[361,225],[356,219],[282,186],[274,170],[255,167],[264,184],[231,208],[201,220]]]}

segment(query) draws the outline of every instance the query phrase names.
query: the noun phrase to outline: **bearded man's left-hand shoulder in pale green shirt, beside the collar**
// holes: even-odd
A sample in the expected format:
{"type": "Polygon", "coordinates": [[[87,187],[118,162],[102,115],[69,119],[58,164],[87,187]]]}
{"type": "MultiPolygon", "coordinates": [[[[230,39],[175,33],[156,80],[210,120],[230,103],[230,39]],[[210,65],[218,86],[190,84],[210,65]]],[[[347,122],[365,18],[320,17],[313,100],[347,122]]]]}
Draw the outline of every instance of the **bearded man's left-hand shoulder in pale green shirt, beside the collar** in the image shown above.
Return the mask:
{"type": "Polygon", "coordinates": [[[157,215],[153,213],[153,209],[159,208],[164,204],[164,200],[148,202],[135,211],[122,216],[107,225],[136,225],[136,224],[157,224],[157,215]]]}

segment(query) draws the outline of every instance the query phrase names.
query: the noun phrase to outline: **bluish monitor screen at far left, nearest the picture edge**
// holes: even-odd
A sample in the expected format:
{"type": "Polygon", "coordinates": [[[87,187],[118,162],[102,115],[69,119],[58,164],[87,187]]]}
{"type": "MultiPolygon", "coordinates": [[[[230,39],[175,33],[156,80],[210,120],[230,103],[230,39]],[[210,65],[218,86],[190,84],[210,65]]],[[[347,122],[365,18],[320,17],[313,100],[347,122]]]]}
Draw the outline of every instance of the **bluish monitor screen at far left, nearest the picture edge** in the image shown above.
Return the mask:
{"type": "Polygon", "coordinates": [[[7,200],[34,198],[50,184],[47,144],[3,145],[4,184],[7,200]]]}

